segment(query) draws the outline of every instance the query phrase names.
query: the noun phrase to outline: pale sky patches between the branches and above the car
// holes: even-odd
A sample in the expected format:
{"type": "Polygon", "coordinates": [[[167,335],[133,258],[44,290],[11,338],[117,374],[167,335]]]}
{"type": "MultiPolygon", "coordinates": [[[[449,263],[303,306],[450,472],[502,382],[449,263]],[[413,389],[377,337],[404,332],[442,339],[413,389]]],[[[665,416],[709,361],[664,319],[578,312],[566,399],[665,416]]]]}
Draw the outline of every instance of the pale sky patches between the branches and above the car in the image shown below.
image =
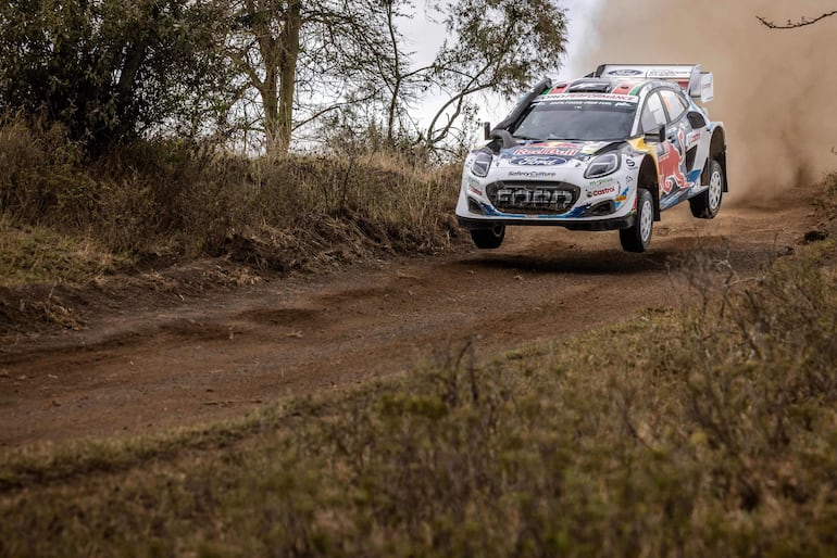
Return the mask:
{"type": "MultiPolygon", "coordinates": [[[[433,61],[439,47],[445,40],[445,29],[441,23],[434,22],[418,0],[415,16],[400,22],[401,31],[408,39],[409,50],[414,51],[414,66],[427,64],[433,61]]],[[[594,33],[592,21],[601,0],[555,0],[555,3],[566,9],[567,14],[567,43],[566,54],[562,68],[555,68],[548,76],[554,79],[579,77],[595,68],[580,67],[580,53],[585,48],[584,38],[594,33]]],[[[523,94],[525,91],[521,91],[523,94]]],[[[421,107],[416,107],[416,114],[423,124],[428,124],[430,117],[442,104],[441,97],[430,97],[421,107]]],[[[480,99],[480,121],[492,123],[501,121],[513,106],[513,102],[507,102],[499,97],[488,96],[480,99]]]]}

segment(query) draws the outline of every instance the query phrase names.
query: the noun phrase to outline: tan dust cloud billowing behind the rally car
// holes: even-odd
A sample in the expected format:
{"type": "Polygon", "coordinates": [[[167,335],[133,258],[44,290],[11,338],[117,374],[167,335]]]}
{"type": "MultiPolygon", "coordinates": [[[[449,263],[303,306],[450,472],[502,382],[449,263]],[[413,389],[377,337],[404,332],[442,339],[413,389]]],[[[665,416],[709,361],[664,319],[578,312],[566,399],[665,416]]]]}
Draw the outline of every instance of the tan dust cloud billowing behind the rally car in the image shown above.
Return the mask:
{"type": "Polygon", "coordinates": [[[732,202],[770,199],[837,168],[837,15],[830,0],[602,0],[578,50],[600,63],[698,63],[715,78],[710,116],[727,130],[732,202]]]}

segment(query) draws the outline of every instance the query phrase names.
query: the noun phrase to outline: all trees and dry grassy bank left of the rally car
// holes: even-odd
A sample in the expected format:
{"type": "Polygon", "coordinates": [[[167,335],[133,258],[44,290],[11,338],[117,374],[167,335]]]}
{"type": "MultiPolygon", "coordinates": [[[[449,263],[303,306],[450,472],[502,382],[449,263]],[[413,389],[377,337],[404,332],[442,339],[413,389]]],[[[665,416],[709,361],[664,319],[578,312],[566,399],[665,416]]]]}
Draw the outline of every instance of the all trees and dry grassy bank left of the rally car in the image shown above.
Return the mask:
{"type": "Polygon", "coordinates": [[[193,292],[447,249],[479,96],[565,35],[549,0],[0,3],[0,335],[76,327],[123,271],[204,265],[193,292]]]}

